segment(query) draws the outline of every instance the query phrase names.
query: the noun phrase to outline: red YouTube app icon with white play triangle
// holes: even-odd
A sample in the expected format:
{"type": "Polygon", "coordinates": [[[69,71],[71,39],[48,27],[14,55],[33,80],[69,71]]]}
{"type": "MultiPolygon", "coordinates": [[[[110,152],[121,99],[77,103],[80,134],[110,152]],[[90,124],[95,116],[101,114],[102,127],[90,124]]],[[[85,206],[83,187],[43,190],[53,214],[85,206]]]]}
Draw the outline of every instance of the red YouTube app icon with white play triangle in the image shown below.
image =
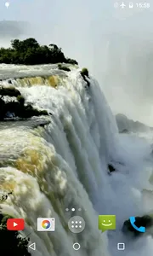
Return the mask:
{"type": "Polygon", "coordinates": [[[21,231],[25,229],[25,220],[23,218],[8,218],[7,230],[21,231]]]}

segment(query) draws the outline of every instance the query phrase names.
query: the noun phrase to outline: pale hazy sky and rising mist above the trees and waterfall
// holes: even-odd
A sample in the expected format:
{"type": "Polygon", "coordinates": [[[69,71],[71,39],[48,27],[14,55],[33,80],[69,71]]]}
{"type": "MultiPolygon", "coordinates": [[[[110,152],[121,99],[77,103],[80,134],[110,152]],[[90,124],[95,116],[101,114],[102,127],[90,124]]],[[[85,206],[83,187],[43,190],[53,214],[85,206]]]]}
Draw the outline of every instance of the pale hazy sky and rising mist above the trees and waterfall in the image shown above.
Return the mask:
{"type": "Polygon", "coordinates": [[[8,2],[7,9],[6,1],[0,0],[1,20],[29,21],[29,36],[40,44],[57,44],[66,56],[89,68],[113,112],[153,125],[153,76],[145,68],[146,62],[150,66],[147,55],[153,52],[151,3],[145,10],[129,9],[128,0],[123,1],[125,9],[115,9],[114,3],[122,1],[113,0],[8,2]]]}

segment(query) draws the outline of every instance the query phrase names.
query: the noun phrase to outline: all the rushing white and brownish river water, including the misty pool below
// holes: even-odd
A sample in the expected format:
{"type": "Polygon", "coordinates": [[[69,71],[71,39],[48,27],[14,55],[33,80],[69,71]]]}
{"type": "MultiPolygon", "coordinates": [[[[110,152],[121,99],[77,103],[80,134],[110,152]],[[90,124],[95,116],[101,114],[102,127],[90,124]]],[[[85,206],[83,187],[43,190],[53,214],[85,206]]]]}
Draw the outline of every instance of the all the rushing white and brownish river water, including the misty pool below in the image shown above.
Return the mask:
{"type": "Polygon", "coordinates": [[[0,191],[13,191],[1,212],[26,219],[24,236],[37,245],[31,254],[150,256],[151,236],[130,240],[121,230],[130,216],[153,210],[152,134],[119,134],[100,85],[90,77],[88,88],[77,68],[3,64],[0,79],[49,113],[0,123],[0,191]],[[85,220],[82,233],[68,229],[71,208],[85,220]],[[116,230],[99,231],[99,214],[116,214],[116,230]],[[39,217],[54,217],[55,231],[38,232],[39,217]],[[117,251],[118,242],[126,243],[125,251],[117,251]]]}

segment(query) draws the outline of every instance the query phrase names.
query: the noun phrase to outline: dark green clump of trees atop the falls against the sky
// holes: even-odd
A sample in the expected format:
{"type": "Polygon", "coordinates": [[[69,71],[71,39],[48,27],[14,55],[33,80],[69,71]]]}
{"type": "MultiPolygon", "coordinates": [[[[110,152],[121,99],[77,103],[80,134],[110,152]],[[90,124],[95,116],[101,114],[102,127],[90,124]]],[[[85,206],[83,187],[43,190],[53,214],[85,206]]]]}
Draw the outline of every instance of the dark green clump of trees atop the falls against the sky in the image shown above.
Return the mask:
{"type": "Polygon", "coordinates": [[[77,61],[66,58],[56,44],[40,45],[35,38],[14,39],[11,41],[11,47],[0,48],[0,63],[38,65],[63,62],[78,64],[77,61]]]}

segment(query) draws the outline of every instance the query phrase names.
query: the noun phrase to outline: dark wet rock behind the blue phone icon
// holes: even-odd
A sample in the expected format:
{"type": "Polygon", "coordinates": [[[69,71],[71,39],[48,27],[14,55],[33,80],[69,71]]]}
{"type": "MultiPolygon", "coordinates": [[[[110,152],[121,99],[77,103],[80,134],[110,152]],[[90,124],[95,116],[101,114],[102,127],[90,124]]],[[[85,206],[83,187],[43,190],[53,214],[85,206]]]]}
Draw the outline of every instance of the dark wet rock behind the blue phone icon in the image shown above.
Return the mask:
{"type": "MultiPolygon", "coordinates": [[[[135,223],[134,224],[138,228],[145,227],[147,229],[147,228],[150,228],[150,226],[153,225],[153,218],[151,218],[149,215],[144,215],[143,217],[137,216],[137,217],[135,217],[135,223]]],[[[134,236],[139,236],[139,235],[144,234],[142,232],[139,232],[139,231],[135,230],[133,228],[133,225],[130,223],[129,219],[127,219],[123,223],[123,225],[122,225],[122,232],[124,232],[124,233],[131,233],[134,236]]]]}

